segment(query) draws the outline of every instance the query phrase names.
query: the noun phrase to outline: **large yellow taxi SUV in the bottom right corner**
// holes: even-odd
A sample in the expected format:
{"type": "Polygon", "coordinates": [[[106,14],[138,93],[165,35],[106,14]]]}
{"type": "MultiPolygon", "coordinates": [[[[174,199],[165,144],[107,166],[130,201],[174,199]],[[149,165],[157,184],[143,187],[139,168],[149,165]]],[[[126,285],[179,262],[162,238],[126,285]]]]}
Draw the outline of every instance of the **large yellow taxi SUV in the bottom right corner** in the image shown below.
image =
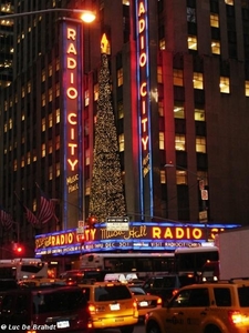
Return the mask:
{"type": "Polygon", "coordinates": [[[184,286],[166,307],[149,311],[146,333],[249,332],[249,280],[184,286]]]}

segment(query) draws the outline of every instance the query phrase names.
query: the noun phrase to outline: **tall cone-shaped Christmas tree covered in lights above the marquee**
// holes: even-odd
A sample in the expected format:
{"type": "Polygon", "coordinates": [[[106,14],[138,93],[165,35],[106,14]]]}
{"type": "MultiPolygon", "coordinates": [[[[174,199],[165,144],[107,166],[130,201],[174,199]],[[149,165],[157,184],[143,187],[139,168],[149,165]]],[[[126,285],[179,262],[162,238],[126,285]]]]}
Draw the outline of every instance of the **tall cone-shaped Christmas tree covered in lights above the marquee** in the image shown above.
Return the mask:
{"type": "Polygon", "coordinates": [[[93,175],[90,193],[90,216],[98,222],[126,213],[123,193],[117,133],[111,101],[108,43],[102,39],[98,101],[95,123],[93,175]]]}

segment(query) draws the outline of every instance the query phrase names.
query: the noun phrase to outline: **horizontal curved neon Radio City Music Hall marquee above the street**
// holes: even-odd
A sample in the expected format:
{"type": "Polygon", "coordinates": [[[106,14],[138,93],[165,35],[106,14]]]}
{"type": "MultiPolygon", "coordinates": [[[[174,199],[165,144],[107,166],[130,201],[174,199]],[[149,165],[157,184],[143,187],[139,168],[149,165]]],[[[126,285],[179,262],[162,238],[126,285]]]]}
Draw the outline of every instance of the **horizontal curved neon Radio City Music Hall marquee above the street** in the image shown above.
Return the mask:
{"type": "Polygon", "coordinates": [[[200,246],[206,243],[206,235],[215,235],[237,224],[180,224],[131,222],[128,231],[107,231],[106,225],[97,224],[85,230],[85,242],[81,244],[76,229],[41,234],[35,236],[35,255],[65,255],[97,251],[165,251],[184,246],[200,246]]]}

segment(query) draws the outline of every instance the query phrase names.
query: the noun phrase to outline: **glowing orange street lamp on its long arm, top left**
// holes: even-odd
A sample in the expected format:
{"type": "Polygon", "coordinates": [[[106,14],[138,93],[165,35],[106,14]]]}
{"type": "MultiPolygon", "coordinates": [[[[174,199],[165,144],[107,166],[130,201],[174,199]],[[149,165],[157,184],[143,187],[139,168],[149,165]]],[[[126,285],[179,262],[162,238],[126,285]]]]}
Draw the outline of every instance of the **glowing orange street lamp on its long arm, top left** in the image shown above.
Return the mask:
{"type": "Polygon", "coordinates": [[[0,16],[0,21],[2,20],[12,20],[15,18],[27,17],[27,16],[34,16],[34,14],[43,14],[49,12],[66,12],[66,13],[75,13],[80,14],[80,18],[83,22],[91,23],[95,20],[96,16],[91,10],[84,10],[84,9],[66,9],[66,8],[49,8],[49,9],[41,9],[41,10],[34,10],[34,11],[27,11],[27,12],[18,12],[18,13],[11,13],[11,14],[3,14],[0,16]]]}

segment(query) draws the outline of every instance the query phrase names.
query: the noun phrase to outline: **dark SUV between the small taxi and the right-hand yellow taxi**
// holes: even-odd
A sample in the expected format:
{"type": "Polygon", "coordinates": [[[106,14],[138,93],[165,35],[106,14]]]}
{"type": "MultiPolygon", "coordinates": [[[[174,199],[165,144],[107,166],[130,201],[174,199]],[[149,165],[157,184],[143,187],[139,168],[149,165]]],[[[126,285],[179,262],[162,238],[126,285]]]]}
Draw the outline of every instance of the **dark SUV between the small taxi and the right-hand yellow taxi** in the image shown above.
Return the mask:
{"type": "Polygon", "coordinates": [[[165,305],[181,286],[193,283],[196,283],[194,274],[166,274],[149,278],[143,284],[143,289],[149,294],[160,296],[165,305]]]}

